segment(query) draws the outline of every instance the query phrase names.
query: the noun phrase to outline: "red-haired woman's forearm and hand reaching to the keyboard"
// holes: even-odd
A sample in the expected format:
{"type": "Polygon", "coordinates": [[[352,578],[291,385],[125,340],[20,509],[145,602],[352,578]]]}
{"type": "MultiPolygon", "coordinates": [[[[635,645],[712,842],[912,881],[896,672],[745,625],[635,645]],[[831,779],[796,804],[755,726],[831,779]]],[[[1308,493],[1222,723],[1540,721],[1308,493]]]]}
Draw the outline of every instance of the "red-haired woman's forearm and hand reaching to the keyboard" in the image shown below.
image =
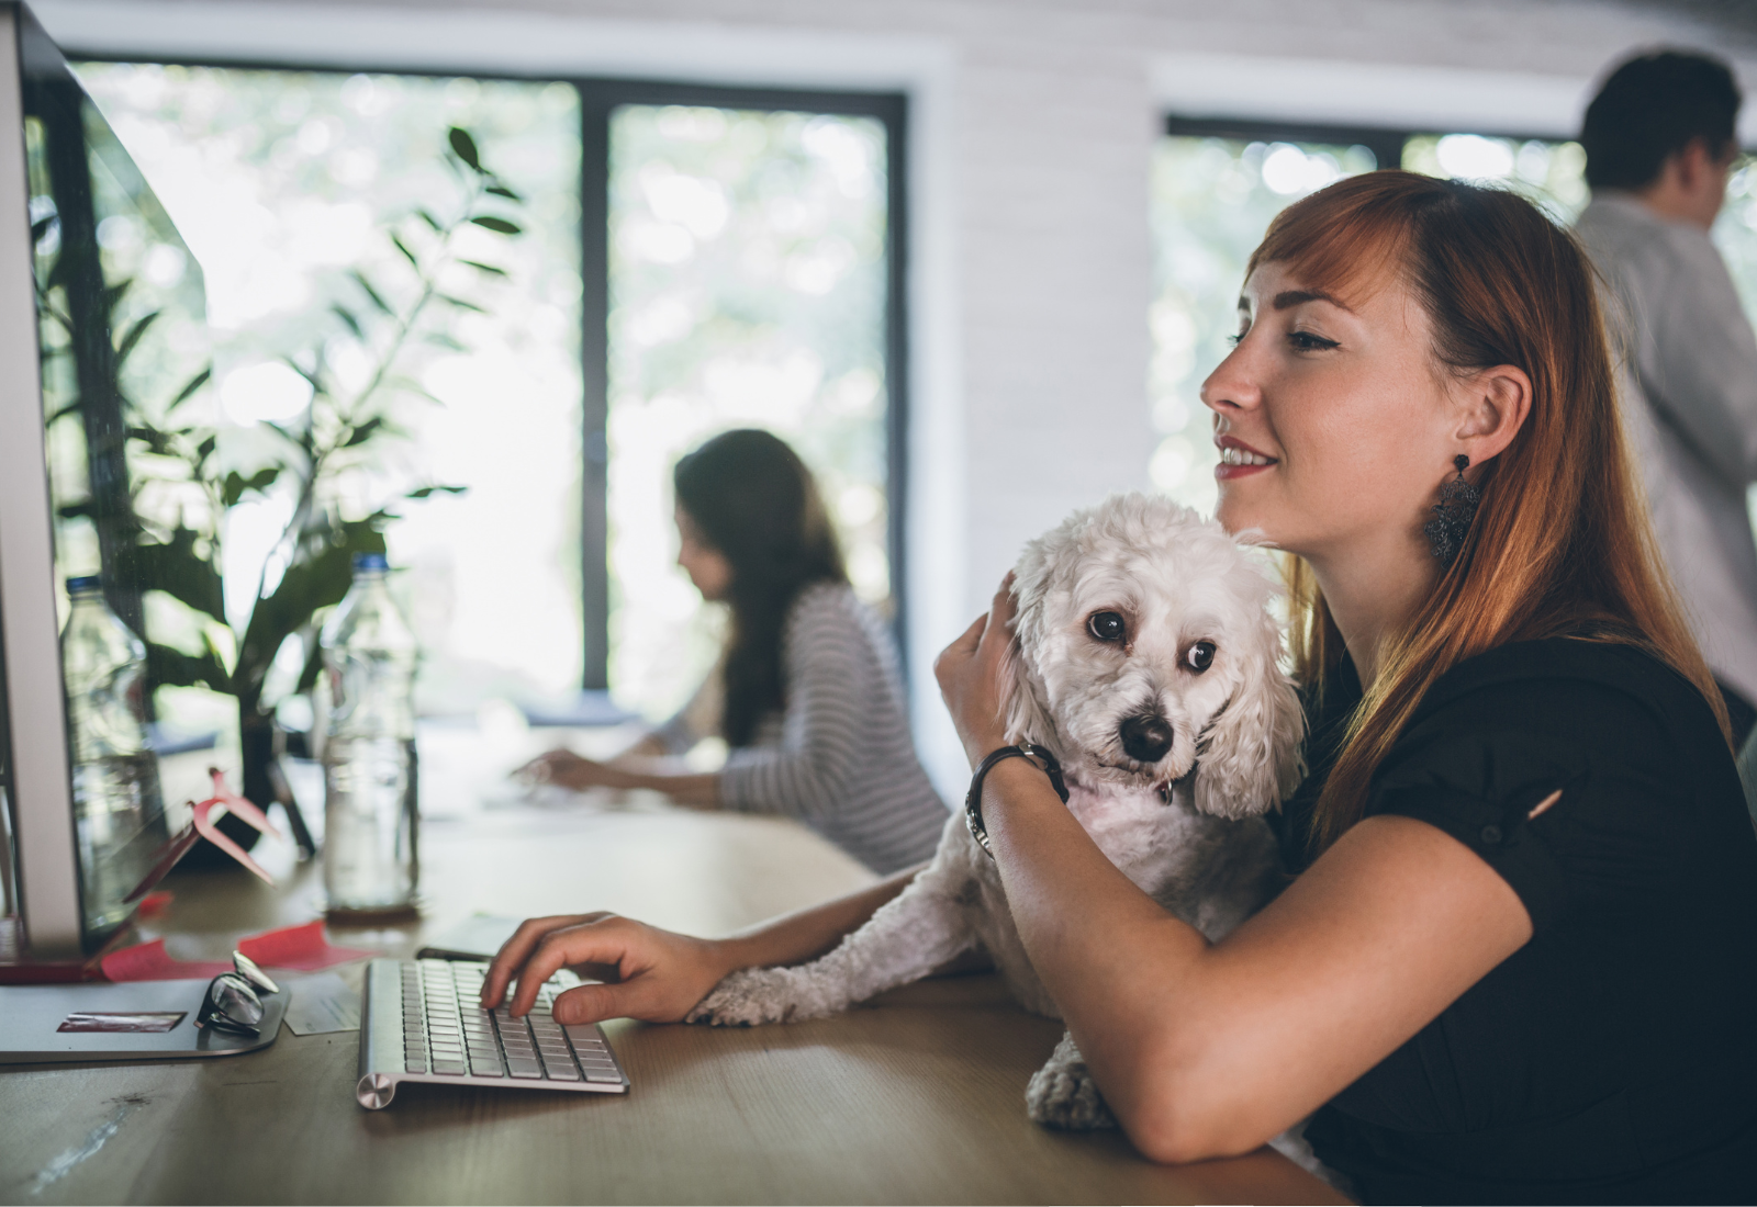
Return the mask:
{"type": "Polygon", "coordinates": [[[608,984],[587,984],[557,996],[559,1023],[606,1018],[676,1023],[729,972],[803,963],[824,954],[901,893],[919,872],[921,867],[905,868],[871,888],[727,939],[694,939],[604,912],[532,918],[494,956],[481,1005],[497,1007],[517,979],[513,1014],[525,1014],[538,986],[557,968],[573,967],[608,984]]]}

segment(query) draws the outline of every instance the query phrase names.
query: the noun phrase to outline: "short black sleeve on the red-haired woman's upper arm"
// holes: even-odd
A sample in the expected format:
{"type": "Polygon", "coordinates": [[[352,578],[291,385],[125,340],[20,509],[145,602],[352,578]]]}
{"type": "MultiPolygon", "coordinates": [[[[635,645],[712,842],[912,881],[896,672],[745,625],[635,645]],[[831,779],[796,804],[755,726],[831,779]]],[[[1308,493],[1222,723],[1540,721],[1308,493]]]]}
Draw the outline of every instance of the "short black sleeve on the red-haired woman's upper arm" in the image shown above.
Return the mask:
{"type": "Polygon", "coordinates": [[[1664,726],[1627,693],[1499,684],[1418,716],[1374,775],[1365,812],[1444,830],[1546,932],[1578,911],[1639,909],[1678,875],[1688,800],[1664,751],[1664,726]]]}

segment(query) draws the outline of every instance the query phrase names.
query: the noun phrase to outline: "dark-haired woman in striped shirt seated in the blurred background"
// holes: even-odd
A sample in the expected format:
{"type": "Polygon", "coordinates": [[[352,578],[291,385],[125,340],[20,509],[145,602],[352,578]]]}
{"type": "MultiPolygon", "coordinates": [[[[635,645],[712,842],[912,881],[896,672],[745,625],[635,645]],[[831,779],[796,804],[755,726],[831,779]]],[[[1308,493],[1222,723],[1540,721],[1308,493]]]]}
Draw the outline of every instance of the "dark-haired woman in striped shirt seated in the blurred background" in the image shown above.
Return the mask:
{"type": "Polygon", "coordinates": [[[741,428],[683,456],[673,486],[678,565],[733,625],[696,698],[629,754],[680,754],[719,733],[726,767],[652,774],[550,751],[520,774],[789,814],[875,872],[921,863],[945,803],[915,758],[891,635],[849,586],[812,472],[778,437],[741,428]]]}

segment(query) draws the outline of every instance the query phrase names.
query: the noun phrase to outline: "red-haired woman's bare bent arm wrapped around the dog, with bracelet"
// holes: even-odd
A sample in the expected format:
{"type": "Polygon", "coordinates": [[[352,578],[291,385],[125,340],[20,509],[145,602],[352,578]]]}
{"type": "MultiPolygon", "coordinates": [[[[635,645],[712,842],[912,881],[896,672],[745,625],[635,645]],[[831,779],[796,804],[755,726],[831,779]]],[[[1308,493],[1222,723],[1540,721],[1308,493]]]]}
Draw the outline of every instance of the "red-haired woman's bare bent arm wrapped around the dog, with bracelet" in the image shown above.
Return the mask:
{"type": "MultiPolygon", "coordinates": [[[[972,760],[1001,746],[1007,588],[936,663],[972,760]]],[[[1019,937],[1093,1077],[1154,1160],[1246,1153],[1344,1089],[1532,933],[1513,889],[1425,823],[1372,818],[1219,944],[1135,888],[1042,772],[989,774],[1019,937]]]]}

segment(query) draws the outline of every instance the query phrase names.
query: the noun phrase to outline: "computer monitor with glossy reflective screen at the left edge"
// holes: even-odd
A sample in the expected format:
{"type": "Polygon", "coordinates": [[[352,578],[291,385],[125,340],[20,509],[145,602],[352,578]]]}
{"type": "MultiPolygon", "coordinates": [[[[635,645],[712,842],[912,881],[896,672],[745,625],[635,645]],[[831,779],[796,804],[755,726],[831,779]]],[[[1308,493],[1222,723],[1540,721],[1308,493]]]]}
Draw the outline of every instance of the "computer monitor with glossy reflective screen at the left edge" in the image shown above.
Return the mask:
{"type": "Polygon", "coordinates": [[[42,26],[0,0],[0,868],[28,960],[93,953],[193,839],[160,796],[81,832],[60,632],[65,582],[100,575],[125,625],[176,646],[151,632],[142,551],[199,500],[155,439],[207,360],[195,258],[42,26]]]}

